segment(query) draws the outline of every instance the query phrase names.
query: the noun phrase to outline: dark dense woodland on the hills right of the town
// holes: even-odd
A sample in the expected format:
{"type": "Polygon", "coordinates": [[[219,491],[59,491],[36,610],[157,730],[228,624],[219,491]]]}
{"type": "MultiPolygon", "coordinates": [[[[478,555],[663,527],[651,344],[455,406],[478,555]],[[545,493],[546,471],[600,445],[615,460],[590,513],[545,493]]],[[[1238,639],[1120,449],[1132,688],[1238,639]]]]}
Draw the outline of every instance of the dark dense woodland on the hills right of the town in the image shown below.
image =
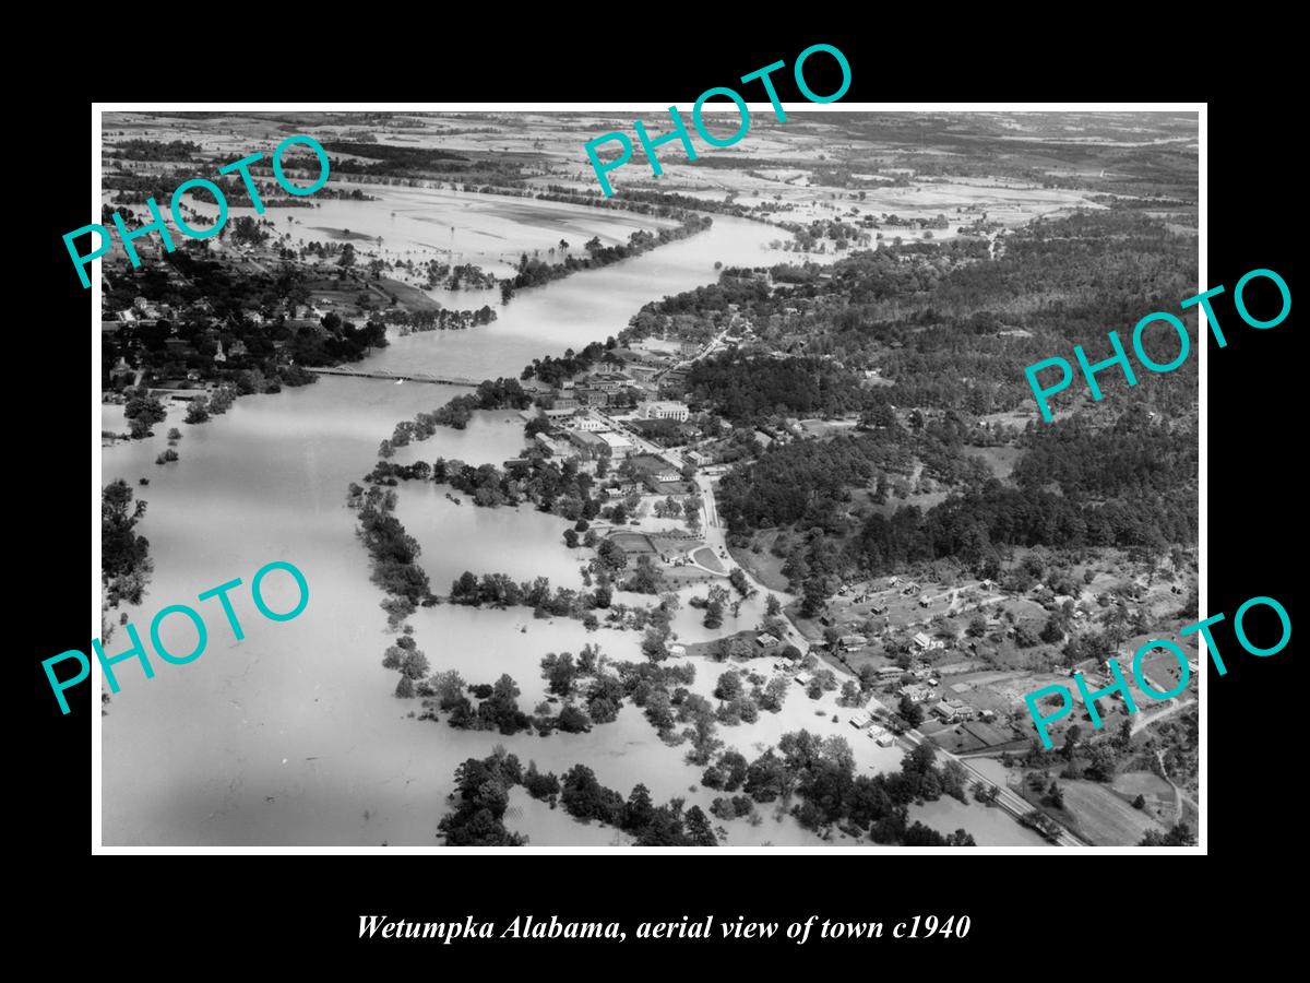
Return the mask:
{"type": "MultiPolygon", "coordinates": [[[[718,291],[669,298],[633,318],[630,333],[660,333],[680,317],[718,318],[734,298],[765,343],[804,354],[705,362],[689,375],[693,400],[748,423],[861,412],[857,433],[776,443],[719,486],[739,545],[758,530],[808,531],[786,569],[803,585],[806,608],[854,571],[954,557],[996,575],[1013,547],[1158,554],[1196,541],[1195,360],[1131,389],[1103,376],[1114,401],[1051,426],[982,419],[1031,406],[1022,374],[1030,357],[1072,343],[1100,353],[1107,326],[1176,308],[1195,283],[1195,239],[1136,211],[1103,211],[1038,220],[1003,241],[997,258],[968,245],[857,253],[833,263],[831,279],[812,266],[727,270],[718,291]],[[773,284],[766,296],[761,277],[773,284]],[[838,366],[874,367],[891,385],[870,396],[838,366]],[[1022,451],[1005,482],[968,453],[976,446],[1022,451]],[[884,507],[910,478],[930,478],[951,497],[926,511],[884,507]]],[[[1157,360],[1176,353],[1176,341],[1149,338],[1148,349],[1153,341],[1165,345],[1151,353],[1157,360]]]]}

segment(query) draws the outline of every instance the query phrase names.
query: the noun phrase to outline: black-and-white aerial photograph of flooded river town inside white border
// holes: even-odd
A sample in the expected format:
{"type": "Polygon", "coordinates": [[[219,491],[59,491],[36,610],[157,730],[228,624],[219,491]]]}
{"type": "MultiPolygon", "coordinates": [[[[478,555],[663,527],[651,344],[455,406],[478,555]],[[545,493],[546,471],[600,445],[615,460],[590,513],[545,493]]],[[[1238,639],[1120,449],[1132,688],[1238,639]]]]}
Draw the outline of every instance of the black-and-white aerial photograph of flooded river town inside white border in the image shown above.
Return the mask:
{"type": "Polygon", "coordinates": [[[308,585],[115,667],[103,843],[1195,843],[1195,674],[1023,696],[1203,615],[1196,360],[1024,377],[1196,294],[1197,114],[798,107],[605,195],[634,115],[102,113],[173,232],[86,267],[105,651],[308,585]]]}

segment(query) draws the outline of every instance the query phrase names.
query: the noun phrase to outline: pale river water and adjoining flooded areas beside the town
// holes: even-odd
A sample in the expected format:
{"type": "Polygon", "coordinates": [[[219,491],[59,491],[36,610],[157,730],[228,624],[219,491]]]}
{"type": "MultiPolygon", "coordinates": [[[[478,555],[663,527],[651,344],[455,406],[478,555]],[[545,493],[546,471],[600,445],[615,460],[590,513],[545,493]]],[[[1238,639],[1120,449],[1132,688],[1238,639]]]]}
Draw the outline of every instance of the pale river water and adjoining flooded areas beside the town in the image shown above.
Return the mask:
{"type": "MultiPolygon", "coordinates": [[[[717,216],[703,235],[525,291],[489,326],[396,339],[364,367],[516,376],[533,357],[617,334],[651,299],[713,282],[715,261],[768,262],[761,246],[776,237],[770,227],[717,216]]],[[[143,606],[127,608],[132,623],[144,633],[164,606],[195,604],[199,592],[240,577],[244,586],[232,599],[245,632],[237,641],[216,602],[204,602],[198,607],[210,641],[199,659],[185,666],[155,659],[149,680],[135,662],[117,667],[122,692],[101,721],[106,844],[436,845],[455,767],[495,744],[544,771],[586,763],[625,796],[641,780],[656,801],[683,796],[709,806],[713,793],[700,788],[701,769],[684,761],[684,747],[660,743],[638,708],[625,706],[616,722],[590,734],[504,738],[413,720],[418,703],[392,696],[397,676],[380,666],[392,638],[379,608],[383,594],[368,581],[346,488],[371,469],[379,442],[397,421],[458,392],[329,376],[245,397],[203,426],[185,426],[174,412],[156,427],[159,436],[103,450],[102,482],[123,477],[149,502],[140,531],[151,541],[155,575],[143,606]],[[185,434],[181,461],[157,467],[169,426],[185,434]],[[138,486],[143,476],[148,488],[138,486]],[[274,560],[295,564],[309,583],[308,608],[288,623],[259,616],[246,592],[255,570],[274,560]]],[[[106,429],[122,429],[121,408],[106,406],[103,417],[106,429]]],[[[468,430],[441,430],[413,453],[499,464],[520,446],[521,427],[507,418],[486,414],[468,430]]],[[[411,452],[402,453],[409,459],[411,452]]],[[[421,562],[438,592],[465,569],[544,574],[576,586],[583,556],[563,545],[561,519],[531,509],[456,506],[444,492],[403,488],[398,511],[423,547],[421,562]]],[[[293,604],[288,582],[270,577],[266,587],[275,611],[293,604]]],[[[743,606],[735,626],[752,626],[760,604],[743,606]]],[[[696,615],[684,608],[676,621],[688,641],[705,636],[696,615]]],[[[544,696],[537,663],[546,651],[576,653],[593,642],[612,659],[641,658],[634,632],[588,633],[567,619],[533,620],[527,609],[439,606],[421,609],[411,623],[434,668],[458,668],[469,682],[508,672],[528,712],[544,696]]],[[[166,620],[161,634],[172,651],[194,647],[185,619],[166,620]]],[[[126,636],[115,632],[107,651],[126,647],[126,636]]],[[[720,670],[701,661],[694,689],[709,693],[720,670]]],[[[795,689],[782,713],[764,714],[752,727],[720,729],[722,735],[755,756],[786,730],[807,726],[848,735],[861,767],[899,764],[900,751],[875,747],[845,723],[846,714],[832,720],[840,712],[831,695],[811,704],[795,689]]],[[[980,810],[962,806],[959,813],[980,810]]],[[[973,828],[954,820],[946,828],[973,828]]],[[[614,840],[612,830],[579,826],[517,793],[507,824],[527,832],[533,845],[614,840]]],[[[817,843],[790,818],[772,814],[758,826],[744,819],[727,826],[732,844],[817,843]]],[[[1028,841],[1013,823],[984,826],[980,843],[1028,841]]]]}

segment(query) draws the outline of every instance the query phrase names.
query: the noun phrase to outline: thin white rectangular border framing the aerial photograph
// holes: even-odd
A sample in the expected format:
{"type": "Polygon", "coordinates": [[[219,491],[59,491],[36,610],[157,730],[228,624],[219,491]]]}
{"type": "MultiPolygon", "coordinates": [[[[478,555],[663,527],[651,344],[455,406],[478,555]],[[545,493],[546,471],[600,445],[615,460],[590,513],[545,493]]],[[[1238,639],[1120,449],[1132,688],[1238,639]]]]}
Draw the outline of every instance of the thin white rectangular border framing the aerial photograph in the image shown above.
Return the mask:
{"type": "MultiPolygon", "coordinates": [[[[772,110],[768,102],[748,102],[752,113],[765,114],[772,110]]],[[[553,104],[521,104],[521,102],[93,102],[90,113],[90,145],[92,145],[92,182],[90,182],[90,222],[98,223],[101,214],[101,128],[103,113],[169,113],[169,111],[232,111],[232,113],[341,113],[341,111],[393,111],[393,113],[663,113],[669,106],[662,102],[553,102],[553,104]]],[[[706,105],[714,113],[735,111],[735,106],[706,105]]],[[[1205,102],[829,102],[829,104],[783,104],[783,110],[789,114],[799,113],[1196,113],[1197,114],[1197,252],[1199,277],[1197,292],[1205,290],[1203,284],[1209,280],[1207,260],[1207,219],[1208,219],[1208,104],[1205,102]]],[[[793,117],[789,115],[789,121],[793,117]]],[[[777,123],[786,126],[786,123],[777,123]]],[[[582,145],[597,136],[596,132],[578,134],[579,149],[582,145]]],[[[101,359],[101,282],[98,270],[92,275],[92,637],[100,637],[100,488],[101,488],[101,388],[100,388],[100,359],[101,359]]],[[[1179,298],[1182,300],[1182,298],[1179,298]]],[[[1197,308],[1197,357],[1200,362],[1200,422],[1197,439],[1200,440],[1200,612],[1208,611],[1208,595],[1205,571],[1208,562],[1208,536],[1207,536],[1207,377],[1208,377],[1208,346],[1201,343],[1207,337],[1207,321],[1204,312],[1197,308]]],[[[1108,325],[1114,328],[1115,325],[1108,325]]],[[[1204,617],[1204,615],[1201,613],[1204,617]]],[[[1207,849],[1207,807],[1209,782],[1207,776],[1207,666],[1208,659],[1197,658],[1201,667],[1197,679],[1199,703],[1199,828],[1196,847],[106,847],[101,836],[101,713],[100,693],[102,687],[102,672],[98,659],[92,659],[92,685],[90,685],[90,727],[92,727],[92,855],[118,856],[118,855],[430,855],[430,853],[472,853],[486,856],[490,853],[511,853],[523,856],[527,853],[541,855],[627,855],[627,853],[655,853],[667,856],[669,853],[720,853],[720,855],[806,855],[806,856],[846,856],[846,855],[887,855],[887,853],[922,853],[927,856],[941,856],[947,853],[972,855],[1036,855],[1060,856],[1061,853],[1098,853],[1098,855],[1131,855],[1154,856],[1161,853],[1205,855],[1207,849]]]]}

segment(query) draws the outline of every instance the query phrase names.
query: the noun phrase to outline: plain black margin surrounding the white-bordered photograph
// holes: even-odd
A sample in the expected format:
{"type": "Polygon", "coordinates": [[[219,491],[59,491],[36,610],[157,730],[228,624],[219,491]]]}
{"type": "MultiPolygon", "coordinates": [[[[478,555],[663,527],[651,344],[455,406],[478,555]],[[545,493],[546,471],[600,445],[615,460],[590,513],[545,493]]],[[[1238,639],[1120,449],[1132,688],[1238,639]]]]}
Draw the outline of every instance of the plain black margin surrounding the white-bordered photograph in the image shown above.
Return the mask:
{"type": "MultiPolygon", "coordinates": [[[[655,21],[662,21],[658,12],[655,21]]],[[[1066,39],[1041,43],[1022,34],[997,39],[993,47],[989,38],[971,31],[920,47],[903,35],[825,25],[769,29],[765,24],[753,39],[743,38],[739,30],[693,38],[685,28],[630,35],[616,26],[604,41],[578,37],[542,46],[495,38],[464,46],[455,26],[443,30],[443,17],[432,13],[413,39],[397,41],[388,33],[375,54],[360,56],[347,56],[339,39],[320,50],[299,29],[288,28],[297,37],[283,41],[279,28],[259,42],[258,55],[249,54],[249,62],[240,46],[233,50],[224,42],[220,52],[210,52],[212,68],[162,71],[156,64],[148,73],[106,75],[90,90],[66,83],[68,88],[56,94],[47,87],[39,104],[21,110],[29,118],[24,126],[38,139],[30,144],[34,156],[10,159],[10,164],[17,160],[30,168],[33,177],[18,174],[13,180],[30,181],[43,193],[26,202],[30,214],[22,224],[9,227],[9,235],[21,237],[24,245],[21,254],[10,253],[10,278],[22,283],[30,275],[41,284],[30,294],[21,287],[9,294],[10,338],[17,349],[9,362],[10,442],[14,450],[28,451],[9,481],[8,502],[13,530],[9,561],[17,574],[10,596],[18,602],[10,623],[20,625],[20,641],[9,655],[16,684],[10,692],[24,713],[16,742],[21,786],[10,814],[21,823],[14,845],[37,847],[21,852],[20,858],[33,866],[22,896],[33,920],[58,946],[56,958],[67,954],[68,959],[107,962],[131,971],[130,961],[161,965],[161,955],[186,962],[199,957],[204,966],[231,959],[246,967],[290,963],[342,969],[354,957],[368,966],[398,959],[441,973],[455,970],[452,961],[472,957],[477,965],[494,954],[496,962],[483,965],[496,971],[508,965],[504,959],[517,962],[524,954],[540,959],[541,946],[365,946],[358,940],[359,916],[462,920],[473,915],[504,924],[517,914],[541,919],[554,914],[561,919],[625,920],[631,936],[639,920],[677,921],[683,915],[694,920],[710,912],[718,920],[745,915],[748,920],[786,923],[817,914],[888,924],[916,914],[967,914],[972,931],[959,941],[883,940],[838,950],[831,942],[798,948],[781,940],[766,946],[738,942],[727,952],[734,963],[762,954],[779,967],[799,959],[817,967],[815,959],[824,959],[827,973],[859,974],[900,965],[929,973],[943,966],[1001,971],[997,963],[977,962],[979,957],[1011,955],[1015,967],[1044,973],[1077,963],[1074,953],[1083,946],[1149,948],[1149,938],[1162,937],[1170,941],[1161,944],[1172,950],[1182,940],[1204,942],[1210,917],[1227,920],[1225,931],[1277,917],[1276,902],[1246,894],[1250,886],[1238,887],[1237,881],[1271,869],[1271,864],[1279,869],[1294,849],[1300,823],[1284,796],[1303,785],[1301,761],[1293,758],[1300,746],[1292,742],[1300,716],[1293,709],[1300,703],[1293,678],[1297,636],[1279,655],[1258,659],[1239,650],[1230,625],[1235,608],[1262,594],[1281,600],[1293,625],[1300,624],[1292,537],[1301,524],[1293,498],[1300,492],[1306,387],[1300,381],[1302,360],[1293,350],[1296,309],[1277,328],[1258,332],[1237,318],[1229,296],[1217,304],[1229,346],[1218,350],[1210,341],[1207,353],[1210,522],[1209,603],[1203,613],[1222,611],[1229,616],[1216,632],[1229,675],[1209,675],[1205,845],[1210,865],[1204,876],[1195,866],[1199,857],[1146,851],[967,861],[959,852],[942,852],[935,856],[943,858],[935,862],[926,855],[874,852],[93,861],[86,689],[69,691],[73,713],[60,716],[39,665],[54,653],[86,645],[90,583],[81,550],[86,548],[88,499],[98,488],[98,476],[88,480],[73,461],[80,461],[86,414],[94,401],[94,396],[81,395],[86,358],[77,354],[75,343],[88,330],[89,292],[71,269],[60,236],[86,222],[92,98],[495,100],[541,101],[544,107],[550,101],[654,100],[677,104],[685,111],[701,90],[730,85],[783,59],[789,69],[774,76],[779,96],[799,109],[803,101],[790,80],[790,66],[802,48],[821,41],[840,47],[852,64],[854,81],[842,102],[1208,100],[1205,286],[1224,283],[1231,294],[1242,274],[1268,267],[1297,294],[1292,244],[1303,224],[1294,197],[1302,177],[1297,157],[1284,151],[1300,113],[1279,96],[1269,75],[1277,58],[1272,52],[1264,56],[1260,47],[1267,41],[1227,35],[1192,45],[1175,33],[1171,41],[1157,43],[1125,28],[1123,37],[1111,30],[1085,37],[1073,48],[1066,39]],[[434,31],[436,37],[428,37],[434,31]],[[1221,54],[1214,54],[1216,46],[1221,54]],[[1210,54],[1203,54],[1207,48],[1210,54]],[[1238,54],[1243,60],[1234,66],[1238,54]],[[258,72],[246,67],[255,63],[262,66],[258,72]],[[1193,68],[1200,73],[1192,73],[1193,68]],[[22,385],[25,379],[34,387],[22,385]],[[26,412],[20,410],[24,405],[26,412]],[[24,535],[25,530],[31,532],[24,535]],[[28,609],[31,607],[35,611],[28,609]],[[252,954],[267,962],[254,963],[252,954]],[[871,958],[848,958],[863,954],[871,958]]],[[[531,24],[516,28],[520,37],[532,33],[531,24]]],[[[362,34],[368,30],[360,29],[362,34]]],[[[571,38],[572,31],[570,28],[571,38]]],[[[807,79],[820,93],[836,88],[836,75],[824,77],[827,63],[824,55],[807,63],[807,79]]],[[[761,97],[753,90],[747,96],[752,101],[761,97]]],[[[579,134],[579,156],[580,144],[592,135],[579,134]]],[[[1125,325],[1106,325],[1111,328],[1124,334],[1125,325]]],[[[1254,628],[1251,632],[1260,638],[1254,628]]],[[[434,824],[440,811],[441,803],[434,803],[434,824]]],[[[676,965],[700,967],[686,957],[705,945],[685,944],[672,953],[680,961],[676,965]]],[[[641,971],[655,965],[645,961],[656,948],[662,953],[669,949],[637,948],[630,940],[621,948],[578,944],[565,955],[572,955],[576,962],[571,965],[583,971],[625,973],[634,963],[622,957],[635,954],[641,971]]],[[[181,969],[172,959],[162,965],[181,969]]],[[[1128,966],[1111,966],[1111,971],[1128,971],[1128,966]]]]}

